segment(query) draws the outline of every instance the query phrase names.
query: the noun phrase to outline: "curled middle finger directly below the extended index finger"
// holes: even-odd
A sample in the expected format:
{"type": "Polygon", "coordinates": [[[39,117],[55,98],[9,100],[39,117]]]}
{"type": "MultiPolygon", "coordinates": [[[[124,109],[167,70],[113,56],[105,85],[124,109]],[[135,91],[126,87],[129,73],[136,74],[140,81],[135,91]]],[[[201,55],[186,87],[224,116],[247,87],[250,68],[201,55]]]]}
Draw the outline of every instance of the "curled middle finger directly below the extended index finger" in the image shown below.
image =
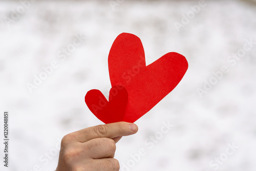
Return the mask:
{"type": "Polygon", "coordinates": [[[92,159],[114,158],[115,156],[116,143],[110,138],[95,138],[83,144],[87,149],[87,155],[92,159]]]}

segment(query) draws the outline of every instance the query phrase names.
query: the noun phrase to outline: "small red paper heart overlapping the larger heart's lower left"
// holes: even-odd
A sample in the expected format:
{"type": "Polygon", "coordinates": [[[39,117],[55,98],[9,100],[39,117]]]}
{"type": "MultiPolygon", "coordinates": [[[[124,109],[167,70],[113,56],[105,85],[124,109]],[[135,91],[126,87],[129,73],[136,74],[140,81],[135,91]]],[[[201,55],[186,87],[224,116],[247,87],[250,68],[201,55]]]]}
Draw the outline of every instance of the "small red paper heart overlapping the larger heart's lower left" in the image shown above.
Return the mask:
{"type": "Polygon", "coordinates": [[[110,90],[109,101],[99,90],[90,90],[84,97],[90,111],[102,122],[112,123],[123,120],[128,93],[123,86],[114,86],[110,90]]]}

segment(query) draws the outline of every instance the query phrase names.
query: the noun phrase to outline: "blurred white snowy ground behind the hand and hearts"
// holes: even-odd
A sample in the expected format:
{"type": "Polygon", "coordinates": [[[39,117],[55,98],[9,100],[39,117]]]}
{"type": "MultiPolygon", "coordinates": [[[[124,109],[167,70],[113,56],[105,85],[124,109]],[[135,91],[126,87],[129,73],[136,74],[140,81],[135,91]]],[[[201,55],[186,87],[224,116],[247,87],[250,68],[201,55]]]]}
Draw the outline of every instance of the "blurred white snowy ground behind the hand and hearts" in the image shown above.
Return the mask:
{"type": "MultiPolygon", "coordinates": [[[[175,51],[187,58],[189,68],[177,88],[136,121],[139,132],[118,142],[121,167],[132,165],[122,170],[211,171],[216,167],[210,161],[223,159],[228,144],[234,143],[239,148],[218,170],[254,171],[256,45],[236,63],[227,59],[241,52],[246,39],[256,41],[256,4],[206,1],[178,31],[174,23],[181,23],[182,14],[199,1],[119,2],[113,10],[109,1],[38,0],[9,26],[6,17],[21,4],[0,2],[0,112],[10,112],[11,129],[10,168],[1,160],[0,169],[54,170],[59,139],[102,124],[87,108],[84,95],[99,89],[108,96],[109,50],[118,34],[128,32],[140,37],[147,64],[175,51]],[[86,40],[61,60],[58,52],[72,44],[76,34],[86,40]],[[58,67],[30,93],[27,83],[53,60],[58,67]],[[197,89],[222,66],[229,72],[201,98],[197,89]],[[174,126],[149,148],[145,141],[159,133],[164,121],[174,126]],[[146,155],[133,162],[131,155],[140,148],[146,155]]],[[[3,130],[2,114],[0,119],[3,130]]],[[[0,147],[2,156],[2,143],[0,147]]]]}

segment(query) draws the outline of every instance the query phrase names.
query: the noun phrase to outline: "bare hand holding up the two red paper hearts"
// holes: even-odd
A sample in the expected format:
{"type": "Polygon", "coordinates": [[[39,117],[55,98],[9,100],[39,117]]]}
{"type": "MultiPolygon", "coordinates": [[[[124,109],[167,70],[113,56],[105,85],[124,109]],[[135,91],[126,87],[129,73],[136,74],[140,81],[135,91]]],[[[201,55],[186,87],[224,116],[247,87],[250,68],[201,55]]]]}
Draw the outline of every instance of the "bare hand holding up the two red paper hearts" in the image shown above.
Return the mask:
{"type": "Polygon", "coordinates": [[[56,171],[119,170],[119,162],[114,159],[116,143],[137,131],[134,123],[116,122],[70,133],[61,140],[56,171]]]}

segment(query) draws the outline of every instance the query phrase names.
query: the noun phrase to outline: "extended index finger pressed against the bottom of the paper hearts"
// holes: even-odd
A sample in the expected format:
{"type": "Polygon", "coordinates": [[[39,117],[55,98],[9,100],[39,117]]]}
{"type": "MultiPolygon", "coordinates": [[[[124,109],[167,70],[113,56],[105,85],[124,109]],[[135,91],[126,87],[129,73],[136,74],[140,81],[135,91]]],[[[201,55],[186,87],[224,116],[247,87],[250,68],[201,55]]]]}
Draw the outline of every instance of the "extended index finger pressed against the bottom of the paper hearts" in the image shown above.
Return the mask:
{"type": "Polygon", "coordinates": [[[77,141],[86,142],[101,137],[112,139],[121,136],[133,135],[137,133],[137,131],[138,126],[134,123],[116,122],[88,127],[87,129],[83,129],[72,134],[77,141]]]}

